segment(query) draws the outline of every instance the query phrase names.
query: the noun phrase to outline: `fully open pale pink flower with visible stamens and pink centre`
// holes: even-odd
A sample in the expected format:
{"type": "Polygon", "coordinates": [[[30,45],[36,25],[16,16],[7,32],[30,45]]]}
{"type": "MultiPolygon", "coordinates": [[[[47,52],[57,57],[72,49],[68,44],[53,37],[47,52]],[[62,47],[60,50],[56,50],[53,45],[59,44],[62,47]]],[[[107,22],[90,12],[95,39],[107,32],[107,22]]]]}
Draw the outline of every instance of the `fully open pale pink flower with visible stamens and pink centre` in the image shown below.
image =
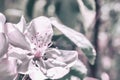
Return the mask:
{"type": "Polygon", "coordinates": [[[33,19],[28,26],[24,17],[18,24],[6,23],[10,49],[8,55],[20,60],[18,72],[32,80],[62,78],[77,60],[76,51],[50,48],[53,30],[44,16],[33,19]]]}

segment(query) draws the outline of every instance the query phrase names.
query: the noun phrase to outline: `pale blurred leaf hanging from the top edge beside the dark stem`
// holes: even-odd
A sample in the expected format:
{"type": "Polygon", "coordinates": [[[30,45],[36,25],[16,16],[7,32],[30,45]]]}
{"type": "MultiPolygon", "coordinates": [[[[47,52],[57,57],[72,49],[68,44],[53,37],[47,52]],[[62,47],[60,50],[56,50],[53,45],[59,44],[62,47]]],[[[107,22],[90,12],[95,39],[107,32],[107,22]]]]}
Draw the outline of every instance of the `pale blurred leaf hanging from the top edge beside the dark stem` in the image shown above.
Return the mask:
{"type": "Polygon", "coordinates": [[[89,0],[89,2],[91,1],[91,5],[94,5],[92,10],[90,10],[89,8],[87,8],[85,6],[85,3],[87,5],[88,0],[77,0],[78,4],[79,4],[79,8],[80,8],[80,12],[81,12],[81,16],[82,16],[82,23],[85,27],[85,30],[88,30],[88,28],[90,26],[92,26],[94,24],[94,20],[95,20],[95,4],[93,0],[89,0]],[[83,3],[85,2],[85,3],[83,3]]]}

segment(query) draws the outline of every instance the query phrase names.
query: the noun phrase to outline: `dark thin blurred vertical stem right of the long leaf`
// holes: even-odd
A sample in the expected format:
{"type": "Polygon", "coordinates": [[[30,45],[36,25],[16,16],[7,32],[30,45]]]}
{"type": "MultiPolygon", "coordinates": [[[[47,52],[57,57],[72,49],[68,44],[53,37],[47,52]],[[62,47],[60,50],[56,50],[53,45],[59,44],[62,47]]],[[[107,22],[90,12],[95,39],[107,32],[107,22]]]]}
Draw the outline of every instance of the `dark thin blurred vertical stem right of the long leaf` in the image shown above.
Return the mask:
{"type": "Polygon", "coordinates": [[[96,52],[97,52],[97,55],[96,55],[96,61],[95,61],[95,64],[94,65],[90,65],[90,68],[91,68],[91,76],[92,77],[95,77],[95,78],[99,78],[98,77],[98,66],[99,66],[99,59],[100,59],[100,56],[99,56],[99,47],[98,47],[98,36],[99,36],[99,27],[100,27],[100,24],[101,24],[101,20],[100,20],[100,15],[101,15],[101,12],[100,12],[100,0],[95,0],[95,3],[96,3],[96,21],[95,21],[95,26],[94,26],[94,33],[93,33],[93,45],[96,49],[96,52]]]}

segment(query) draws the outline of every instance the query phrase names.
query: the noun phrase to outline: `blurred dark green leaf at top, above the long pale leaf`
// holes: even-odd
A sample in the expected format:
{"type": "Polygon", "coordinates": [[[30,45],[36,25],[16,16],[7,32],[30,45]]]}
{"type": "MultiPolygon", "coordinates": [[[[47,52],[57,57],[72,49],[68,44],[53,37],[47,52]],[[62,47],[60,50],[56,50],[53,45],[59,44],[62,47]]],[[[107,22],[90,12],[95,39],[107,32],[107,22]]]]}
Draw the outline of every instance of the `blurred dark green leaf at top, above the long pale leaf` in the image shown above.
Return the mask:
{"type": "Polygon", "coordinates": [[[75,28],[80,9],[77,0],[55,0],[55,12],[63,24],[75,28]]]}

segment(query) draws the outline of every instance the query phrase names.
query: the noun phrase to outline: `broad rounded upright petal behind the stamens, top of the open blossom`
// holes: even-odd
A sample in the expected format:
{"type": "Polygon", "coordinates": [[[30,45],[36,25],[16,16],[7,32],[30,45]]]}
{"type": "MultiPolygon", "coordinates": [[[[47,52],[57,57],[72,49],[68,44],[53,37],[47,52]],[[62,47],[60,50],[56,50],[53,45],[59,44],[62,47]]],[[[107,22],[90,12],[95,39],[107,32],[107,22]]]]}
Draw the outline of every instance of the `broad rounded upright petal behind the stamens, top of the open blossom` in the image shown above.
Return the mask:
{"type": "Polygon", "coordinates": [[[42,37],[43,43],[46,43],[48,45],[51,42],[52,36],[53,36],[53,29],[51,22],[49,18],[41,16],[33,20],[34,27],[37,33],[39,33],[40,36],[38,36],[38,40],[42,37]]]}

